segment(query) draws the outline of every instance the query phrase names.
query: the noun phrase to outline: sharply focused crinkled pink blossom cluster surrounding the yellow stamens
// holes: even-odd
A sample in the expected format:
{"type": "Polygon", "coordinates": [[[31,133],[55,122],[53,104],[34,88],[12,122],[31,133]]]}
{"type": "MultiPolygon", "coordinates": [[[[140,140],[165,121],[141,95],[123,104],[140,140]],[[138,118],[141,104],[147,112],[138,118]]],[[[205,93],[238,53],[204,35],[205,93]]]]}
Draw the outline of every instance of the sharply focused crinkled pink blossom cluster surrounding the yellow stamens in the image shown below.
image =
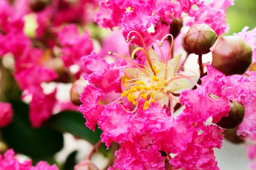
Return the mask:
{"type": "MultiPolygon", "coordinates": [[[[83,104],[79,110],[86,119],[85,125],[92,130],[95,130],[96,124],[99,126],[103,131],[101,139],[106,143],[107,148],[112,142],[117,142],[121,146],[115,152],[117,159],[114,165],[108,169],[218,170],[213,148],[221,148],[223,130],[216,123],[222,117],[228,116],[230,100],[240,102],[245,107],[245,117],[238,126],[238,135],[249,137],[255,133],[255,71],[247,71],[243,75],[225,76],[216,68],[207,65],[207,75],[201,78],[202,84],[195,83],[196,89],[183,90],[179,99],[176,99],[184,105],[184,110],[175,118],[172,106],[175,97],[168,95],[169,106],[171,105],[169,107],[165,105],[165,100],[154,102],[152,95],[151,100],[150,96],[140,100],[135,95],[127,95],[125,87],[129,76],[134,78],[134,82],[138,81],[131,83],[132,85],[143,84],[139,81],[146,79],[147,76],[152,76],[153,81],[158,81],[153,76],[157,75],[154,73],[156,69],[153,64],[150,66],[150,63],[156,63],[155,60],[161,60],[161,57],[162,61],[168,62],[168,57],[163,56],[166,49],[159,49],[159,57],[155,58],[150,46],[154,44],[154,47],[158,48],[155,45],[169,33],[169,29],[172,29],[168,24],[173,19],[182,19],[181,13],[184,12],[190,17],[185,24],[206,23],[220,35],[227,32],[225,10],[233,4],[233,1],[211,1],[208,4],[204,1],[186,0],[146,3],[100,1],[99,3],[101,8],[95,15],[95,21],[99,26],[111,29],[119,26],[122,28],[124,38],[130,40],[131,46],[134,43],[143,47],[143,49],[138,47],[141,51],[135,49],[137,55],[135,60],[134,53],[130,56],[110,51],[112,50],[110,44],[109,54],[117,56],[113,57],[114,62],[109,62],[105,55],[99,57],[97,53],[82,57],[85,68],[91,71],[83,75],[90,84],[84,87],[80,98],[83,104]],[[193,5],[199,9],[194,9],[193,5]],[[155,27],[154,33],[147,31],[150,25],[155,27]],[[138,68],[139,66],[141,68],[138,68]],[[148,72],[149,67],[151,68],[149,72],[152,73],[148,72]],[[122,94],[116,96],[116,93],[122,94]],[[109,100],[110,97],[112,101],[109,100]],[[148,106],[146,103],[149,101],[151,103],[148,106]],[[134,102],[133,105],[130,102],[134,102]],[[210,118],[212,124],[207,125],[206,122],[210,118]]],[[[238,35],[255,49],[254,40],[251,38],[255,36],[254,31],[243,30],[238,35]]],[[[178,68],[179,63],[176,64],[177,67],[172,66],[178,68]]],[[[174,75],[178,74],[174,73],[174,75]]],[[[178,78],[182,77],[188,78],[183,75],[178,78]]],[[[152,79],[146,80],[150,82],[152,79]]],[[[148,91],[152,89],[148,86],[146,88],[148,91]]],[[[133,89],[130,88],[130,91],[133,89]]]]}

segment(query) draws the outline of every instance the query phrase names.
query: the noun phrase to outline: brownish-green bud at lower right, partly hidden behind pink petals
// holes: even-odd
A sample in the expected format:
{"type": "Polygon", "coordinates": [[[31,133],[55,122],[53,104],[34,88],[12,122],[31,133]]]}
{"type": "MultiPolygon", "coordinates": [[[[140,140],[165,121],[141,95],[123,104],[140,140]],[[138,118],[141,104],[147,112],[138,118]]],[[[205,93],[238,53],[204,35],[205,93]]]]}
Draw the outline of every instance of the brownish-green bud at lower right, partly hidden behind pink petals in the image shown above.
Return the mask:
{"type": "Polygon", "coordinates": [[[233,100],[230,100],[229,105],[229,115],[222,117],[216,124],[225,129],[234,129],[242,123],[245,116],[245,107],[240,102],[233,100]]]}

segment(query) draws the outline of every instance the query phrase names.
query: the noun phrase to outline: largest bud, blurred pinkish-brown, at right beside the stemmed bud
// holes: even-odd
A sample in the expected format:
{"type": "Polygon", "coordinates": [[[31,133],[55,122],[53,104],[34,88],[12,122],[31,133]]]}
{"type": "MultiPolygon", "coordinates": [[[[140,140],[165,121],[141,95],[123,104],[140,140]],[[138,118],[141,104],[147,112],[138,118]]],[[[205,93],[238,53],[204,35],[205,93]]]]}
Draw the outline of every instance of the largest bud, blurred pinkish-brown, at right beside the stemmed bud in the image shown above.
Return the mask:
{"type": "Polygon", "coordinates": [[[238,35],[220,37],[211,52],[211,66],[226,76],[243,74],[252,63],[252,47],[238,35]]]}

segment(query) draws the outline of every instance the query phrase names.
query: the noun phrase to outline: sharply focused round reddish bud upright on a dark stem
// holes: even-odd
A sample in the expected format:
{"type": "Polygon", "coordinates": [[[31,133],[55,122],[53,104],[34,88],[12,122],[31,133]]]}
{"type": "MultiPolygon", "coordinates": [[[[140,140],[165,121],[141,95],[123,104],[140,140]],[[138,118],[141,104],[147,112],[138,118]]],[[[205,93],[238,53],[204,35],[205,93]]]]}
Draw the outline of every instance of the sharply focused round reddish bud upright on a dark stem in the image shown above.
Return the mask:
{"type": "Polygon", "coordinates": [[[216,32],[206,24],[191,26],[186,33],[183,43],[195,54],[202,55],[210,52],[211,46],[217,40],[216,32]]]}

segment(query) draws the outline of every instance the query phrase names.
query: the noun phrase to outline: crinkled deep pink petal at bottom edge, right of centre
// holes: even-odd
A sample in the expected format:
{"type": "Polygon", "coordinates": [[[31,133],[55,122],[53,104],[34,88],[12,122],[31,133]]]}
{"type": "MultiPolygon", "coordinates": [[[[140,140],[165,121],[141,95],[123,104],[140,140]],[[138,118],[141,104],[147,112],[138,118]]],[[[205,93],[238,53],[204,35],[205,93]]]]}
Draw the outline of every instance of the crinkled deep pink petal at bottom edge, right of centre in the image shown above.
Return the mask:
{"type": "Polygon", "coordinates": [[[212,148],[220,148],[222,146],[223,135],[220,134],[223,130],[214,125],[204,126],[202,130],[203,132],[200,135],[198,135],[197,131],[194,131],[193,139],[186,150],[178,153],[170,160],[174,169],[198,170],[206,168],[219,170],[212,148]]]}

